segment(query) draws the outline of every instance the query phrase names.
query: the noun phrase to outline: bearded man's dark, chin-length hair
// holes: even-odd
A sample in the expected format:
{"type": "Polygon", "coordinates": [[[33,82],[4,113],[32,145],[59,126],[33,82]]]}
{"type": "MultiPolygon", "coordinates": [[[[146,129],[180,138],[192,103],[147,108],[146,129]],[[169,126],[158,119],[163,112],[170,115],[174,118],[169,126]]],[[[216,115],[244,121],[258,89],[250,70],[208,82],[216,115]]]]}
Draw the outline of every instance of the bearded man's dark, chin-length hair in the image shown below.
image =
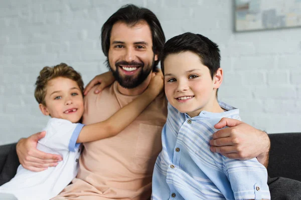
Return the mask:
{"type": "Polygon", "coordinates": [[[156,60],[154,64],[154,69],[156,69],[161,59],[160,52],[165,43],[165,35],[159,19],[154,12],[147,8],[137,7],[133,4],[126,4],[113,13],[101,28],[102,51],[104,55],[108,57],[111,30],[117,21],[125,22],[128,25],[135,25],[140,20],[145,20],[149,25],[150,31],[152,31],[153,52],[158,54],[158,60],[156,60]]]}

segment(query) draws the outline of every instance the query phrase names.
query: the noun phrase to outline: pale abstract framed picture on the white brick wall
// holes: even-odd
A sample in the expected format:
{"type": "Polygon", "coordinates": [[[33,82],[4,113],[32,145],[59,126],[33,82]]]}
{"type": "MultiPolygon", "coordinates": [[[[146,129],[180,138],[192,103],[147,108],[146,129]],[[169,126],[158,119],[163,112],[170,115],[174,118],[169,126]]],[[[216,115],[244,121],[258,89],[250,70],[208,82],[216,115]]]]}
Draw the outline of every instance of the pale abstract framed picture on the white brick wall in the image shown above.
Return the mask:
{"type": "Polygon", "coordinates": [[[235,0],[235,31],[301,26],[301,0],[235,0]]]}

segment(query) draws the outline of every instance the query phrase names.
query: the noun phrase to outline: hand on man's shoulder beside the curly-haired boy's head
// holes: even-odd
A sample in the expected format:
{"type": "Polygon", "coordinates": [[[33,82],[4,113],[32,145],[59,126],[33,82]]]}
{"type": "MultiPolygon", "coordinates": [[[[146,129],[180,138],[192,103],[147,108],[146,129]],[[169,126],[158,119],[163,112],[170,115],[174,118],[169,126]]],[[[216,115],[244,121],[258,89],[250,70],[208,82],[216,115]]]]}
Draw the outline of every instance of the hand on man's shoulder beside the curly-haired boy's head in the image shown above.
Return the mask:
{"type": "Polygon", "coordinates": [[[104,89],[106,86],[109,86],[114,82],[115,78],[113,77],[112,71],[107,71],[105,73],[96,75],[85,87],[84,89],[84,95],[88,93],[88,91],[96,84],[99,84],[96,89],[94,90],[94,93],[99,93],[102,89],[104,89]]]}

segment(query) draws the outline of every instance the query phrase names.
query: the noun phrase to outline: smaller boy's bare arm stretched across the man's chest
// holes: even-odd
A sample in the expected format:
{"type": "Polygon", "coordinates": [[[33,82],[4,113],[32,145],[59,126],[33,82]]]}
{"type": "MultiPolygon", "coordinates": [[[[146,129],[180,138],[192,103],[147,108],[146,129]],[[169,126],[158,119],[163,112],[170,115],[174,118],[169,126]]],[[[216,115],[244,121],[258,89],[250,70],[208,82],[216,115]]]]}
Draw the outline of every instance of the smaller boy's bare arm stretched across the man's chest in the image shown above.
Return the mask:
{"type": "Polygon", "coordinates": [[[76,142],[95,141],[118,134],[157,97],[162,88],[163,75],[162,72],[158,72],[150,81],[148,88],[132,102],[122,107],[110,118],[84,126],[76,142]]]}

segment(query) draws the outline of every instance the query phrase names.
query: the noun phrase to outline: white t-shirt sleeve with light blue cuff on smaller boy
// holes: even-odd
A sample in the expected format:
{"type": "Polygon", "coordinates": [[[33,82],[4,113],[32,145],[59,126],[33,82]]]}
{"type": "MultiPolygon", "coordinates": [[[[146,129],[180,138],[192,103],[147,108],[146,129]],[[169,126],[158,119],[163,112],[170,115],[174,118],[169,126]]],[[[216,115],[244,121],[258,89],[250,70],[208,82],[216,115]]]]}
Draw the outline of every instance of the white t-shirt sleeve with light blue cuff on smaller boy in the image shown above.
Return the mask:
{"type": "Polygon", "coordinates": [[[80,145],[76,140],[83,126],[81,123],[52,118],[44,129],[46,136],[39,143],[53,149],[76,151],[80,145]]]}

